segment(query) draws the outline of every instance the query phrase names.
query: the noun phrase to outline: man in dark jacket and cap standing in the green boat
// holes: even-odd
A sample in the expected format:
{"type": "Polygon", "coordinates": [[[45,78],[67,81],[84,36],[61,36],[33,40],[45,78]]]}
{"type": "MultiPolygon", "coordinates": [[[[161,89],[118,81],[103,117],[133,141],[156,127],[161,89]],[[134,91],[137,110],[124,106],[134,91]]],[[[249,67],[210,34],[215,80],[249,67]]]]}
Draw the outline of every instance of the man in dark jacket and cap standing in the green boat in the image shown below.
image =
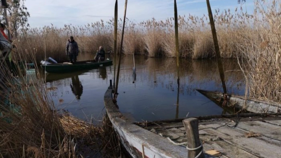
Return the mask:
{"type": "Polygon", "coordinates": [[[78,44],[74,41],[72,36],[69,37],[69,40],[66,44],[66,55],[69,56],[69,60],[72,64],[76,62],[78,55],[78,44]]]}

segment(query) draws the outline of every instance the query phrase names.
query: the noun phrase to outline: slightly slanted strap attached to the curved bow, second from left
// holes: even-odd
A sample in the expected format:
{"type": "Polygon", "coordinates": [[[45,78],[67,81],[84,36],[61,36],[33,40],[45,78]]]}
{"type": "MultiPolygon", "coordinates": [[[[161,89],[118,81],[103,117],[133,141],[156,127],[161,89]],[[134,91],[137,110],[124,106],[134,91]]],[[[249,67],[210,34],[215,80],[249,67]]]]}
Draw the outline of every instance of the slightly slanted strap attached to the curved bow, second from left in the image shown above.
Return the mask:
{"type": "Polygon", "coordinates": [[[117,76],[116,76],[116,87],[114,90],[114,102],[116,102],[117,98],[117,90],[118,90],[118,81],[119,81],[119,73],[120,73],[120,65],[121,65],[121,55],[122,55],[122,47],[123,47],[123,37],[124,37],[124,27],[125,27],[125,20],[126,20],[126,10],[127,10],[127,2],[125,1],[125,10],[124,10],[124,20],[123,20],[123,28],[122,28],[122,36],[121,36],[121,46],[120,46],[120,52],[119,52],[119,62],[118,62],[118,70],[117,70],[117,76]]]}

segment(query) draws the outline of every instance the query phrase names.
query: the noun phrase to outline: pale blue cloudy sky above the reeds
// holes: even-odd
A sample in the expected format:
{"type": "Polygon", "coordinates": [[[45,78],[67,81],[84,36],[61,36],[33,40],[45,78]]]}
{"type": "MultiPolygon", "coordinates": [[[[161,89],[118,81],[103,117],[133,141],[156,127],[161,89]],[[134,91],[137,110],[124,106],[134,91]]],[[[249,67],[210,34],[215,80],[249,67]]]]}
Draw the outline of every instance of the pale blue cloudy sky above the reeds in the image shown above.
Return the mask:
{"type": "MultiPolygon", "coordinates": [[[[27,0],[31,27],[51,25],[63,27],[64,24],[85,25],[91,22],[108,21],[114,17],[115,0],[27,0]]],[[[125,0],[118,1],[118,18],[123,19],[125,0]]],[[[210,0],[212,10],[230,9],[234,11],[241,4],[237,0],[210,0]]],[[[206,0],[177,0],[178,15],[207,15],[206,0]]],[[[243,8],[253,10],[253,0],[246,0],[243,8]]],[[[214,13],[214,11],[213,11],[214,13]]],[[[164,20],[174,15],[173,0],[128,0],[126,17],[136,22],[154,17],[164,20]]]]}

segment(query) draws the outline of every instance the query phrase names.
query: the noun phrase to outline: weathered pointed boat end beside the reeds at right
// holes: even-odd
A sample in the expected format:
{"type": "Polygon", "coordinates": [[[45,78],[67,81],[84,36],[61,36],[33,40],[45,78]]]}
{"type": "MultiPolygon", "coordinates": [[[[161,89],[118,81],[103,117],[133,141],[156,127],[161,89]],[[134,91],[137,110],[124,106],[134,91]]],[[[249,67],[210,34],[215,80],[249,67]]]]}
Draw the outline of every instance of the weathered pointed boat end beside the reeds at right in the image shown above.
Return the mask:
{"type": "Polygon", "coordinates": [[[222,106],[244,109],[253,113],[281,113],[281,104],[270,100],[228,94],[227,101],[225,101],[225,95],[222,92],[205,91],[201,89],[196,89],[196,91],[222,106]],[[223,103],[223,101],[225,101],[225,103],[223,103]]]}

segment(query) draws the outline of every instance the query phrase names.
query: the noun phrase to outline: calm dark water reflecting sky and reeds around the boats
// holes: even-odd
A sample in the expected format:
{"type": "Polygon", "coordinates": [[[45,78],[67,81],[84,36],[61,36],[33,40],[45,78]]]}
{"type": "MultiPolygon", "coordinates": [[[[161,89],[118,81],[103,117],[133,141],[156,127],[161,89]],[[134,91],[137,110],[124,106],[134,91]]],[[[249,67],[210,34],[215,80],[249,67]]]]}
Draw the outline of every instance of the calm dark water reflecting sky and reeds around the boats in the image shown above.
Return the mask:
{"type": "MultiPolygon", "coordinates": [[[[78,56],[78,60],[93,58],[94,54],[78,56]]],[[[119,110],[131,119],[153,121],[229,113],[195,90],[223,91],[215,59],[181,59],[179,94],[175,58],[135,56],[135,66],[137,77],[132,83],[133,56],[122,57],[117,104],[119,110]]],[[[237,62],[223,59],[223,66],[227,91],[243,95],[243,75],[237,62]]],[[[46,74],[46,85],[56,87],[51,94],[58,109],[64,108],[78,118],[98,123],[105,114],[103,96],[113,78],[114,65],[73,73],[46,74]]]]}

